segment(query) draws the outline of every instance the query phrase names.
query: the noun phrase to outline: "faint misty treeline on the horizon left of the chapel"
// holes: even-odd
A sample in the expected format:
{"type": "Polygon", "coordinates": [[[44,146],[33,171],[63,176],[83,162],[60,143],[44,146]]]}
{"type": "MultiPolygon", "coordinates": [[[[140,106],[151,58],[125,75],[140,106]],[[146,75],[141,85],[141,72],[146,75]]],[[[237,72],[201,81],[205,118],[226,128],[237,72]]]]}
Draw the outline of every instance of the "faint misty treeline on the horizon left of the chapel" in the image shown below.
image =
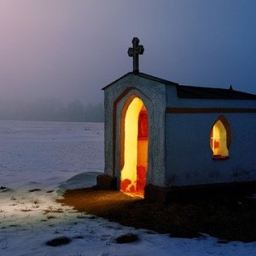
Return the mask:
{"type": "Polygon", "coordinates": [[[84,105],[73,101],[67,104],[55,100],[36,102],[0,101],[0,119],[103,122],[103,104],[84,105]]]}

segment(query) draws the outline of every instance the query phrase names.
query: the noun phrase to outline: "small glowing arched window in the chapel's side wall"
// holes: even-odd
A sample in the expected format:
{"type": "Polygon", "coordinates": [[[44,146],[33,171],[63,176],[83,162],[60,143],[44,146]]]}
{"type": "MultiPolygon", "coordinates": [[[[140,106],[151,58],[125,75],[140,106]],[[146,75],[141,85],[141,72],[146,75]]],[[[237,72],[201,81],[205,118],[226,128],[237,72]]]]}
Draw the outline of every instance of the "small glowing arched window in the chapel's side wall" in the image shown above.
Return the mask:
{"type": "Polygon", "coordinates": [[[230,124],[224,116],[220,116],[212,126],[210,145],[214,159],[229,158],[231,142],[230,124]]]}

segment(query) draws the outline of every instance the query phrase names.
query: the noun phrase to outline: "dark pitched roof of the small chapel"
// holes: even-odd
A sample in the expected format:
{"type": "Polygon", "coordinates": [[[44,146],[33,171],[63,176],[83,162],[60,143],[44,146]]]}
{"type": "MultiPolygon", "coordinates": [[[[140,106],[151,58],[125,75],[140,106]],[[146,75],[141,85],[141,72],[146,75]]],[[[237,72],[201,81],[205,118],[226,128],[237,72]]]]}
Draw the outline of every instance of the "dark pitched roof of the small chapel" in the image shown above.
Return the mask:
{"type": "Polygon", "coordinates": [[[181,85],[174,83],[172,81],[166,79],[160,79],[146,73],[126,73],[119,79],[116,79],[111,84],[108,84],[102,90],[107,89],[109,86],[117,83],[119,80],[124,79],[128,75],[134,75],[141,77],[143,79],[149,79],[155,82],[159,82],[161,84],[166,85],[174,85],[177,89],[177,96],[180,98],[197,98],[197,99],[245,99],[245,100],[256,100],[256,95],[239,91],[233,90],[232,86],[230,85],[229,89],[224,88],[214,88],[214,87],[203,87],[203,86],[192,86],[192,85],[181,85]]]}

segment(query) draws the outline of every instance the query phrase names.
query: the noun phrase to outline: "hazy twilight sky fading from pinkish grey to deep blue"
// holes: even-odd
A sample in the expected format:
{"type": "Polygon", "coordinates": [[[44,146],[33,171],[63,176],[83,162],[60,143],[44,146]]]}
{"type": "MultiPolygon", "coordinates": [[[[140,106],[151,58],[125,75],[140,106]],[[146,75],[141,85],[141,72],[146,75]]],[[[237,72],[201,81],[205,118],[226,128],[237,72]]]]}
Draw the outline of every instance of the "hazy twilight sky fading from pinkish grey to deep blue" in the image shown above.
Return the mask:
{"type": "Polygon", "coordinates": [[[256,94],[254,0],[0,0],[0,99],[102,102],[132,70],[256,94]]]}

